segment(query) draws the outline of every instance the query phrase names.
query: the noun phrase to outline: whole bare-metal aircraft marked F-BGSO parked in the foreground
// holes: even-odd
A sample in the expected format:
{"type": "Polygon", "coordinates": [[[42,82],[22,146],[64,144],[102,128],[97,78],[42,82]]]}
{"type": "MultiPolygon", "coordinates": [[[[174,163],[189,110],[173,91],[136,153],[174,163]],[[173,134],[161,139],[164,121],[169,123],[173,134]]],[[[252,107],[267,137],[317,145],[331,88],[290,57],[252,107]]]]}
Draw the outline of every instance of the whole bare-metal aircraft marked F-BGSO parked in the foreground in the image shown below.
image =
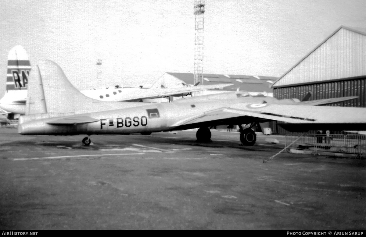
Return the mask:
{"type": "Polygon", "coordinates": [[[19,118],[18,132],[22,135],[87,134],[82,142],[89,145],[91,134],[151,133],[199,128],[197,140],[209,141],[211,132],[208,127],[238,124],[240,141],[244,145],[253,145],[255,133],[250,128],[243,129],[240,124],[253,126],[257,122],[277,120],[298,127],[322,126],[328,129],[341,124],[343,127],[357,125],[366,129],[364,108],[299,105],[294,100],[266,101],[268,98],[262,97],[237,96],[198,102],[191,98],[186,102],[149,105],[117,102],[125,108],[114,109],[100,107],[93,100],[88,106],[80,106],[79,101],[90,98],[79,93],[68,82],[56,63],[48,60],[36,68],[29,79],[26,115],[19,118]],[[64,83],[55,90],[53,84],[56,82],[64,83]]]}

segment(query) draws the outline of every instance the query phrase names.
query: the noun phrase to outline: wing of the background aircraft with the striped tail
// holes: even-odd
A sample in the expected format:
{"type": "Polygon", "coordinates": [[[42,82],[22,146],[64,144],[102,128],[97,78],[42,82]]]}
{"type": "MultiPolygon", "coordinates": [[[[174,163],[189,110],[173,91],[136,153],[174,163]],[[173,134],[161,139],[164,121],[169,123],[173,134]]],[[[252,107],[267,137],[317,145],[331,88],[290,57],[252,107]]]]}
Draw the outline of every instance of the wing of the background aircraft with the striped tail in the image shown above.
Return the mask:
{"type": "Polygon", "coordinates": [[[188,94],[193,91],[220,89],[232,84],[214,84],[214,85],[203,85],[203,86],[190,86],[190,87],[179,87],[179,88],[163,88],[163,89],[141,89],[134,91],[133,93],[119,93],[113,96],[111,101],[133,101],[137,99],[151,99],[161,98],[170,95],[180,96],[180,94],[188,94]]]}

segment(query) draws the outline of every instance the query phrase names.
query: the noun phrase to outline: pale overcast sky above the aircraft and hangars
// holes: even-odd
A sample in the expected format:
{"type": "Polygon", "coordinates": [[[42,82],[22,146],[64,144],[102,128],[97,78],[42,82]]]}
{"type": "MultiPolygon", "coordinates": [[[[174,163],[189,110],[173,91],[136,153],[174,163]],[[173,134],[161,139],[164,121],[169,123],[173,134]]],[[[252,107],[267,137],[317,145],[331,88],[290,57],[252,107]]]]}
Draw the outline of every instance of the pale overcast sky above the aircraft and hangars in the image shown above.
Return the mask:
{"type": "MultiPolygon", "coordinates": [[[[194,71],[194,0],[7,0],[0,9],[0,88],[15,45],[32,65],[55,61],[79,90],[194,71]]],[[[206,0],[204,72],[279,77],[340,25],[366,32],[365,10],[365,0],[206,0]]]]}

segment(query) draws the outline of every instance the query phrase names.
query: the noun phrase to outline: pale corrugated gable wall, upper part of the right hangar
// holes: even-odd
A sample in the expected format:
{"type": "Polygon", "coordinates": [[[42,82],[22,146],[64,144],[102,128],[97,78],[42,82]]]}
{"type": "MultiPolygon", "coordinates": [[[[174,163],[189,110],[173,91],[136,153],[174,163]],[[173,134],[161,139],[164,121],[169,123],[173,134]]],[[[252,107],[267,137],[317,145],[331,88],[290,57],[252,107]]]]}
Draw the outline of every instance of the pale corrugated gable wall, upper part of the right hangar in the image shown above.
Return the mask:
{"type": "Polygon", "coordinates": [[[340,28],[273,84],[316,83],[366,75],[366,35],[340,28]]]}

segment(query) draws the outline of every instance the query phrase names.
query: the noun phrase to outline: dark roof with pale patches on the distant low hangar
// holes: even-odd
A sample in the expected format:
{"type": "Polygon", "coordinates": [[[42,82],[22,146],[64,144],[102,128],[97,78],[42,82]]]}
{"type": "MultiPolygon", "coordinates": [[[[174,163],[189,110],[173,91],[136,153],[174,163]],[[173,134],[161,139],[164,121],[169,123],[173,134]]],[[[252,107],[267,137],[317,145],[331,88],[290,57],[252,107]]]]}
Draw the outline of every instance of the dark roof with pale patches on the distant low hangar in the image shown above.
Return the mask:
{"type": "MultiPolygon", "coordinates": [[[[192,73],[167,72],[187,84],[194,84],[192,73]]],[[[271,82],[277,78],[272,76],[248,76],[248,75],[222,75],[222,74],[203,74],[203,84],[222,84],[232,83],[232,86],[225,87],[225,90],[239,90],[252,92],[272,92],[271,82]]]]}

